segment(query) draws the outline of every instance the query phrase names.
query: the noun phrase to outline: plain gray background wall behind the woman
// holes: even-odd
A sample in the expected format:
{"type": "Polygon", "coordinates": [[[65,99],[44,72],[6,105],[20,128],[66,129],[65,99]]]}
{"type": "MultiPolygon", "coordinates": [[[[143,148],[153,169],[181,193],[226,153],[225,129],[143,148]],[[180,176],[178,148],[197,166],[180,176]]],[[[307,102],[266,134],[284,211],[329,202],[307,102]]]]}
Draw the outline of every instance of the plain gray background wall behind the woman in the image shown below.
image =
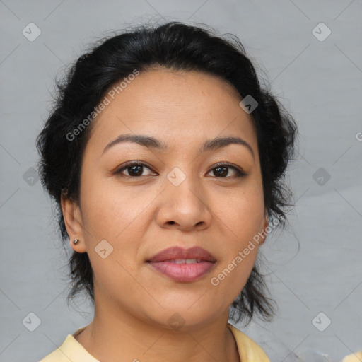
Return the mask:
{"type": "Polygon", "coordinates": [[[291,351],[341,361],[362,349],[361,0],[0,0],[0,11],[0,361],[38,361],[93,317],[87,303],[66,305],[66,253],[33,171],[54,77],[108,31],[155,20],[238,35],[298,122],[291,226],[260,256],[279,312],[238,327],[273,361],[294,361],[291,351]],[[30,22],[41,30],[33,42],[22,34],[30,22]],[[320,22],[332,31],[323,41],[312,33],[320,22]],[[312,322],[321,312],[320,328],[332,321],[323,332],[312,322]],[[34,332],[28,313],[41,320],[34,332]]]}

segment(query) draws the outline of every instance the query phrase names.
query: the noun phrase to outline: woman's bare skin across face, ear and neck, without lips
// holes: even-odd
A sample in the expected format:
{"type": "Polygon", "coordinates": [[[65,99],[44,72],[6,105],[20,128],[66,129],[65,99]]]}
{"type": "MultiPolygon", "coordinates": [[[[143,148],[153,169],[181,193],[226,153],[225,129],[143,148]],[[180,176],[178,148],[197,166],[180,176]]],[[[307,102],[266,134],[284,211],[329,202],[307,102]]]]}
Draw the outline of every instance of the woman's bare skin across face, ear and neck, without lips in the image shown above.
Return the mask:
{"type": "Polygon", "coordinates": [[[267,227],[257,135],[240,100],[216,76],[156,68],[136,76],[93,121],[80,202],[63,197],[62,210],[70,240],[80,240],[71,247],[88,252],[94,273],[94,319],[76,340],[100,361],[240,361],[228,311],[265,237],[218,286],[211,284],[267,227]],[[168,149],[127,142],[103,153],[120,134],[153,136],[168,149]],[[247,141],[254,157],[238,144],[199,152],[204,141],[226,136],[247,141]],[[114,173],[130,160],[148,168],[114,173]],[[218,162],[247,175],[218,172],[218,162]],[[178,186],[167,178],[176,167],[186,176],[178,186]],[[100,240],[113,247],[105,259],[95,252],[100,240]],[[177,282],[146,263],[176,245],[208,250],[214,269],[177,282]],[[178,330],[168,324],[174,313],[185,322],[178,330]]]}

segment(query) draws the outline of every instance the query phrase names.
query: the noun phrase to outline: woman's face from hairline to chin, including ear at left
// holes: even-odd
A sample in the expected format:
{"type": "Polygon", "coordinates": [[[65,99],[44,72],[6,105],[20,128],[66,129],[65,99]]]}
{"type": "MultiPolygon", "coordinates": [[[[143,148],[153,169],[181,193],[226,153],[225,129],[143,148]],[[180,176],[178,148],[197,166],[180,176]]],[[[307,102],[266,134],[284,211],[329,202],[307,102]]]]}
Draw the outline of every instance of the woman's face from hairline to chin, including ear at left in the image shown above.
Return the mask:
{"type": "Polygon", "coordinates": [[[64,209],[70,237],[81,240],[72,247],[91,260],[96,308],[165,326],[215,320],[245,286],[259,247],[250,240],[267,226],[252,119],[233,87],[196,71],[153,69],[113,93],[86,145],[80,208],[64,209]],[[227,137],[243,141],[204,147],[227,137]],[[156,269],[149,261],[169,247],[202,247],[216,262],[156,269]]]}

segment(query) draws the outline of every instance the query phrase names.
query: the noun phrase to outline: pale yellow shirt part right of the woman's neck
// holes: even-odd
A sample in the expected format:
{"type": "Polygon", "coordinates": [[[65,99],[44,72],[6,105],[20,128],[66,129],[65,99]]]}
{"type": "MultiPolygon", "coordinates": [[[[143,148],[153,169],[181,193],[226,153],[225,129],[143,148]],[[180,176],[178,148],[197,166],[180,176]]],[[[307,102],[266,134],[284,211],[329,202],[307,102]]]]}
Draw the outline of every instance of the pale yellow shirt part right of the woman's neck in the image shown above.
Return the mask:
{"type": "Polygon", "coordinates": [[[255,343],[250,337],[241,332],[239,329],[230,325],[228,327],[235,338],[236,344],[238,345],[238,351],[241,361],[245,362],[270,362],[267,354],[262,348],[255,343]]]}

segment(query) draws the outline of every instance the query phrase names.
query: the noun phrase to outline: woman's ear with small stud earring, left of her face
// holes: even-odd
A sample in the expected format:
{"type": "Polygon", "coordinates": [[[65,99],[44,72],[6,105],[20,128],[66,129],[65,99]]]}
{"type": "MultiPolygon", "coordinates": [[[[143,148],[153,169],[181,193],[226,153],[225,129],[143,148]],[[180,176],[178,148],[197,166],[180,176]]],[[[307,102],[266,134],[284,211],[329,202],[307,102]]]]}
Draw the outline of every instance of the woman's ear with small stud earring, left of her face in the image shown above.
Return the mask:
{"type": "Polygon", "coordinates": [[[69,241],[72,249],[76,252],[86,252],[81,209],[76,202],[64,195],[61,197],[61,204],[66,232],[69,235],[69,241]],[[74,239],[78,239],[79,243],[74,245],[74,239]]]}

